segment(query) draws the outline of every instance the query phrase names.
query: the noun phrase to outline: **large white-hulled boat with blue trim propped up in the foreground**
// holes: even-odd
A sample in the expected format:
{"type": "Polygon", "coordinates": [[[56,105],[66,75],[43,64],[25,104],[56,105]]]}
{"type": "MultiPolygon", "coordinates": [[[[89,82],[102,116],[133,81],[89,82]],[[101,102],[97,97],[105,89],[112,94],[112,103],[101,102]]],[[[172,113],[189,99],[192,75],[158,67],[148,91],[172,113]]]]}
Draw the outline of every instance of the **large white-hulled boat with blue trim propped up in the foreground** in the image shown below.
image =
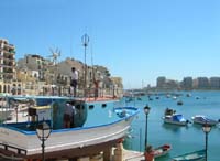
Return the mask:
{"type": "MultiPolygon", "coordinates": [[[[105,103],[105,105],[107,104],[105,103]]],[[[99,125],[88,126],[88,124],[85,124],[88,119],[87,112],[88,110],[96,110],[96,107],[88,109],[89,105],[80,101],[80,105],[76,106],[77,114],[74,118],[76,126],[64,129],[61,122],[64,114],[63,105],[66,105],[66,100],[55,101],[53,104],[53,119],[46,120],[53,128],[50,138],[45,142],[45,157],[47,159],[85,155],[85,153],[95,149],[103,150],[106,146],[113,146],[128,135],[130,125],[139,112],[139,109],[134,107],[113,108],[111,118],[114,120],[110,121],[109,118],[108,121],[102,124],[102,119],[108,117],[102,116],[96,119],[99,125]],[[120,115],[119,117],[119,114],[124,114],[124,111],[127,115],[123,117],[120,115]]],[[[36,124],[37,121],[1,125],[0,152],[23,159],[41,158],[42,142],[35,131],[36,124]]]]}

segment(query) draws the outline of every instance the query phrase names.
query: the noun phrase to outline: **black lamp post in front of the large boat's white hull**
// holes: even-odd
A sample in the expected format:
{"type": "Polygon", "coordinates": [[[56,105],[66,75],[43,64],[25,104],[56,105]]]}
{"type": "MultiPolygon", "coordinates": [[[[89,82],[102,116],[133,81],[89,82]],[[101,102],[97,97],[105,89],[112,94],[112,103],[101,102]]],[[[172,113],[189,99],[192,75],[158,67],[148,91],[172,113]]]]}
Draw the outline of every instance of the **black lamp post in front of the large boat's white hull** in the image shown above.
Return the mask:
{"type": "Polygon", "coordinates": [[[36,127],[36,133],[37,133],[38,139],[42,141],[42,161],[45,161],[45,159],[44,159],[44,148],[45,148],[44,142],[46,141],[46,139],[48,139],[48,137],[51,135],[51,127],[46,124],[46,121],[44,121],[44,119],[43,119],[43,122],[36,127]]]}

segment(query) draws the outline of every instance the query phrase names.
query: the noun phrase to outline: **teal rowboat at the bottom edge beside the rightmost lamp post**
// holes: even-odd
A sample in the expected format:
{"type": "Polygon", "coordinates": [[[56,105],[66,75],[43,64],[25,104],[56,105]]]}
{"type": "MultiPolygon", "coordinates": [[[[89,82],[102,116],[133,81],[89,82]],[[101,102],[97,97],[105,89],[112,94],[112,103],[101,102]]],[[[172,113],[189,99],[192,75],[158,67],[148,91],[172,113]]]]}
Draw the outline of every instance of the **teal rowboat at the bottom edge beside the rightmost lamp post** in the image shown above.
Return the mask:
{"type": "Polygon", "coordinates": [[[194,151],[173,158],[172,161],[204,161],[206,150],[194,151]]]}

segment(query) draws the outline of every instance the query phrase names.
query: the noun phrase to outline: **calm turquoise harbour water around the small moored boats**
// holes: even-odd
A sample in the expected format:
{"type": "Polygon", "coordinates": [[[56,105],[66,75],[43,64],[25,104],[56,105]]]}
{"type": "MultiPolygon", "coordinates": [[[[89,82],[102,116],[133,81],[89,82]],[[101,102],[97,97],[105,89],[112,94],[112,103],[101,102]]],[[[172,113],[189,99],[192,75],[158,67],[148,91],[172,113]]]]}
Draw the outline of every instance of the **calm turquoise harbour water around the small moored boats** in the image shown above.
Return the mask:
{"type": "MultiPolygon", "coordinates": [[[[205,149],[206,140],[202,127],[189,124],[186,127],[167,125],[163,122],[163,115],[166,108],[175,109],[177,114],[184,115],[188,120],[195,115],[206,115],[209,118],[220,119],[220,92],[177,92],[180,96],[175,98],[164,95],[152,95],[136,97],[132,101],[121,104],[135,105],[142,108],[138,118],[132,124],[131,132],[124,141],[127,149],[135,151],[144,151],[145,144],[145,122],[146,116],[143,107],[148,105],[151,111],[147,119],[147,144],[160,147],[165,143],[172,144],[170,152],[156,161],[170,161],[173,157],[205,149]],[[183,105],[177,105],[178,100],[183,100],[183,105]]],[[[123,101],[123,103],[122,103],[123,101]]],[[[193,120],[191,120],[193,121],[193,120]]],[[[212,127],[208,135],[208,160],[219,161],[220,159],[220,127],[212,127]]]]}

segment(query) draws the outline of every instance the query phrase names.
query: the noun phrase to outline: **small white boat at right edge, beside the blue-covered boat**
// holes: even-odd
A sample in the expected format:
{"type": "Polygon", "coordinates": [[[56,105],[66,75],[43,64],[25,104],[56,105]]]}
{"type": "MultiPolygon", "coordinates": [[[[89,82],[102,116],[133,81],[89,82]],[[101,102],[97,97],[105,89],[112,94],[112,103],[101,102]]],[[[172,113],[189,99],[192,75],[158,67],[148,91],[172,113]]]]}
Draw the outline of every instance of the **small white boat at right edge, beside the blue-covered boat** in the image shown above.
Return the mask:
{"type": "Polygon", "coordinates": [[[219,120],[207,118],[204,115],[196,115],[196,116],[191,117],[191,119],[194,120],[195,124],[199,124],[199,125],[207,124],[210,126],[216,126],[217,124],[219,124],[219,120]]]}

